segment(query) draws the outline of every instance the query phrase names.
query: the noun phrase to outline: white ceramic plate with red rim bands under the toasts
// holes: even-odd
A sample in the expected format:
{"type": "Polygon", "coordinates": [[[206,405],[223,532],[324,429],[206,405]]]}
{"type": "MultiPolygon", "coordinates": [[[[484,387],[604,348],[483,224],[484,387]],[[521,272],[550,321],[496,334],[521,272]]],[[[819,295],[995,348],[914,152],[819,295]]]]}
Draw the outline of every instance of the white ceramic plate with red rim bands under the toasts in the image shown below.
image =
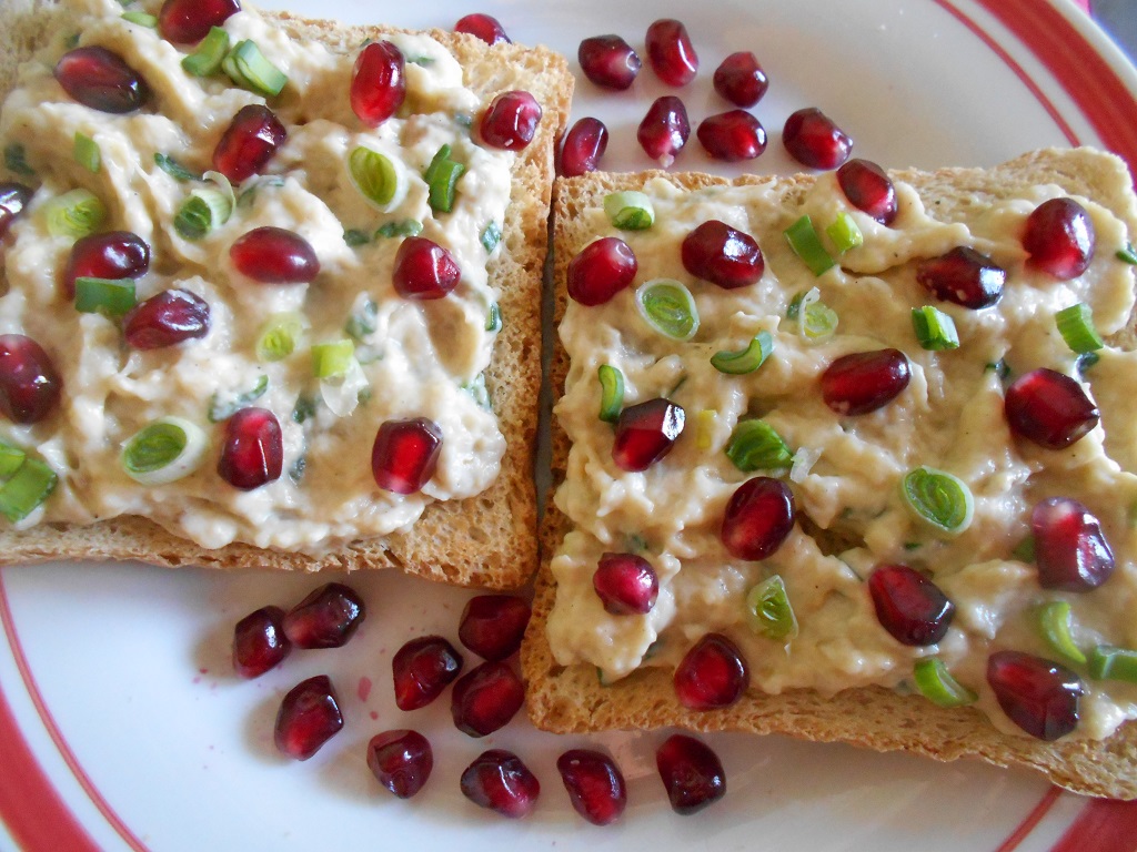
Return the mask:
{"type": "MultiPolygon", "coordinates": [[[[271,0],[283,7],[285,0],[271,0]]],[[[993,165],[1028,149],[1111,148],[1137,165],[1137,73],[1071,3],[1044,0],[291,0],[293,10],[348,22],[449,27],[468,11],[496,15],[515,41],[574,57],[581,39],[624,35],[637,49],[657,17],[686,20],[703,72],[682,95],[692,124],[727,108],[711,70],[753,50],[771,87],[755,109],[770,149],[748,168],[791,170],[780,127],[818,106],[886,166],[993,165]]],[[[645,70],[629,91],[581,80],[574,119],[608,125],[605,166],[649,164],[634,128],[662,87],[645,70]]],[[[722,170],[694,137],[677,167],[722,170]]],[[[732,169],[733,170],[733,169],[732,169]]],[[[595,850],[1132,850],[1134,807],[1059,793],[1021,771],[937,765],[903,754],[780,737],[707,737],[729,794],[678,817],[655,774],[662,733],[591,740],[539,734],[521,718],[481,741],[450,724],[447,700],[395,708],[390,658],[408,637],[456,641],[470,593],[395,574],[357,576],[370,616],[345,649],[298,652],[259,680],[238,680],[233,624],[267,603],[289,607],[327,577],[169,573],[143,566],[53,565],[0,574],[0,844],[58,850],[355,850],[495,852],[595,850]],[[283,693],[330,674],[346,729],[313,760],[272,745],[283,693]],[[380,730],[416,727],[437,766],[408,802],[364,762],[380,730]],[[630,783],[616,827],[571,810],[554,767],[586,743],[612,750],[630,783]],[[458,792],[462,769],[487,747],[518,752],[542,783],[536,812],[509,822],[458,792]]]]}

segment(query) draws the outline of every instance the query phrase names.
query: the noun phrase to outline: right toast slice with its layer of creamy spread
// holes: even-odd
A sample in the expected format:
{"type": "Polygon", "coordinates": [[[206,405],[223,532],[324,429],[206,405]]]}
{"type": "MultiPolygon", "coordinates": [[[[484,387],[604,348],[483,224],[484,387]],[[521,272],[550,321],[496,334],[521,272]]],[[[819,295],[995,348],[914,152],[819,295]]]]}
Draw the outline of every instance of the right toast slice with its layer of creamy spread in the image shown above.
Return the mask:
{"type": "MultiPolygon", "coordinates": [[[[901,208],[891,228],[847,203],[832,173],[733,181],[594,174],[557,182],[555,498],[542,521],[542,567],[522,650],[530,716],[558,733],[678,726],[838,741],[945,761],[979,758],[1039,770],[1079,793],[1137,797],[1131,684],[1097,679],[1092,667],[1067,660],[1067,673],[1085,691],[1081,721],[1048,742],[1011,721],[985,677],[988,650],[1062,660],[1032,620],[1045,602],[1071,604],[1072,640],[1089,657],[1099,645],[1137,646],[1137,541],[1129,520],[1137,443],[1124,390],[1137,368],[1134,267],[1118,256],[1137,235],[1131,177],[1119,158],[1090,149],[1044,150],[987,169],[890,175],[901,208]],[[655,223],[647,231],[620,231],[605,215],[605,198],[624,191],[653,200],[655,223]],[[1065,195],[1092,210],[1097,248],[1085,275],[1059,282],[1027,269],[1019,235],[1039,202],[1065,195]],[[821,234],[849,215],[863,245],[841,254],[822,236],[838,266],[814,277],[782,233],[805,212],[821,234]],[[757,240],[765,256],[761,281],[722,290],[684,270],[679,244],[708,218],[757,240]],[[922,235],[907,240],[899,236],[905,232],[922,235]],[[583,307],[567,296],[567,268],[598,236],[626,241],[639,270],[609,302],[583,307]],[[1006,269],[995,307],[969,310],[916,282],[921,260],[956,244],[1006,269]],[[694,294],[703,324],[687,342],[661,335],[634,307],[633,291],[656,277],[694,294]],[[800,320],[786,317],[794,296],[812,287],[838,317],[836,334],[820,342],[805,341],[800,320]],[[1110,342],[1094,366],[1079,364],[1055,326],[1054,311],[1079,301],[1092,307],[1110,342]],[[923,306],[954,318],[958,349],[920,348],[908,315],[923,306]],[[771,333],[773,351],[753,374],[717,376],[703,366],[716,351],[739,351],[760,331],[771,333]],[[906,353],[910,385],[879,411],[838,417],[820,399],[819,374],[837,356],[882,346],[906,353]],[[659,396],[686,410],[670,454],[644,473],[614,465],[614,424],[597,416],[601,364],[623,370],[624,407],[659,396]],[[1072,376],[1085,369],[1104,443],[1102,428],[1061,451],[1011,435],[1004,382],[1044,366],[1072,376]],[[794,452],[791,468],[742,473],[725,458],[736,423],[757,418],[794,452]],[[811,418],[828,423],[811,426],[811,418]],[[893,433],[899,438],[890,443],[893,433]],[[924,463],[946,468],[973,492],[971,527],[954,537],[903,506],[901,475],[924,463]],[[1109,473],[1098,478],[1090,470],[1109,473]],[[727,552],[720,529],[733,488],[760,475],[794,492],[796,524],[780,552],[747,562],[727,552]],[[1092,507],[1114,549],[1117,569],[1098,591],[1041,588],[1031,557],[1015,554],[1030,533],[1034,501],[1063,493],[1092,507]],[[652,612],[605,611],[592,586],[604,552],[631,552],[653,565],[659,593],[652,612]],[[913,566],[954,599],[954,620],[938,645],[904,645],[878,621],[864,580],[881,562],[913,566]],[[748,590],[775,573],[797,621],[780,633],[747,603],[748,590]],[[741,649],[749,686],[733,703],[696,710],[678,699],[674,673],[708,632],[741,649]],[[978,702],[940,707],[921,695],[914,663],[928,657],[939,658],[978,702]],[[805,663],[795,666],[795,659],[805,663]]],[[[786,627],[783,616],[773,620],[786,627]]]]}

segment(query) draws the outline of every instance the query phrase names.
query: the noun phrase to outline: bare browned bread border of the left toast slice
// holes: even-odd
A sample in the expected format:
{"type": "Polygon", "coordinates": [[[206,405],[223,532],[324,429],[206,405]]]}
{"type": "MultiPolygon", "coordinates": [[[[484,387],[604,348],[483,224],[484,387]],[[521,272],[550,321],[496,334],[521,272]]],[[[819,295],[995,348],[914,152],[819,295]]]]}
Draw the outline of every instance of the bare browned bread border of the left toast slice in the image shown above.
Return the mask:
{"type": "MultiPolygon", "coordinates": [[[[111,17],[117,18],[122,14],[117,3],[105,6],[103,11],[111,17]]],[[[148,6],[147,11],[157,12],[160,3],[151,6],[155,8],[148,6]]],[[[96,8],[99,3],[88,2],[86,7],[96,8]]],[[[66,49],[65,40],[73,36],[70,20],[74,14],[70,7],[55,2],[5,0],[0,92],[7,95],[18,84],[17,72],[22,66],[27,67],[39,51],[50,53],[43,61],[55,62],[66,49]]],[[[339,74],[345,83],[360,45],[398,32],[379,26],[342,26],[327,20],[306,20],[285,12],[264,12],[264,17],[293,42],[318,43],[332,57],[339,57],[333,73],[339,74]]],[[[500,92],[523,89],[533,94],[543,112],[532,142],[518,152],[509,167],[508,206],[504,223],[500,223],[501,239],[496,251],[490,249],[487,261],[488,284],[497,296],[503,319],[492,343],[489,367],[483,374],[489,406],[504,436],[505,451],[499,474],[480,493],[462,499],[429,501],[413,524],[404,524],[380,535],[339,536],[298,549],[257,546],[241,540],[214,546],[208,536],[205,541],[201,537],[194,541],[184,528],[169,524],[161,526],[130,512],[96,523],[58,520],[49,516],[47,523],[27,528],[15,529],[3,525],[0,561],[138,559],[171,567],[198,565],[292,570],[393,567],[430,579],[492,588],[516,587],[531,577],[537,565],[532,468],[537,440],[536,400],[540,385],[540,292],[547,253],[554,149],[567,118],[573,80],[564,58],[545,48],[513,44],[490,48],[472,36],[442,31],[431,31],[425,35],[457,59],[465,86],[481,105],[479,109],[483,109],[500,92]]],[[[183,52],[186,50],[183,49],[183,52]]],[[[410,57],[410,60],[414,59],[410,57]]],[[[288,89],[283,98],[288,100],[288,89]]],[[[284,103],[280,108],[282,115],[287,114],[301,125],[305,123],[302,106],[284,103]]],[[[182,130],[189,133],[192,128],[182,130]]],[[[140,153],[143,168],[148,167],[146,160],[149,156],[148,152],[140,153]]],[[[297,159],[300,161],[293,161],[292,166],[304,168],[302,157],[293,158],[297,159]]],[[[191,165],[210,167],[207,162],[191,165]]],[[[10,178],[11,175],[6,179],[10,178]]],[[[459,182],[459,193],[460,187],[459,182]]],[[[366,219],[343,223],[345,229],[364,226],[366,219]]],[[[119,224],[117,227],[124,226],[119,224]]],[[[368,228],[365,239],[370,233],[368,228]]],[[[374,290],[376,286],[374,282],[364,281],[360,290],[374,290]]],[[[49,346],[52,352],[56,351],[55,345],[49,346]]],[[[443,342],[441,349],[445,345],[443,342]]],[[[289,412],[279,414],[283,418],[289,412]]],[[[31,440],[34,442],[34,437],[31,440]]],[[[208,470],[210,475],[217,465],[216,446],[211,453],[202,466],[202,470],[208,470]]],[[[475,453],[467,463],[481,462],[475,453]]],[[[360,465],[366,467],[367,459],[360,459],[360,465]]],[[[64,474],[65,477],[73,475],[74,470],[64,474]]],[[[218,485],[226,487],[219,482],[218,485]]],[[[190,510],[193,506],[196,503],[188,500],[184,509],[190,510]]]]}

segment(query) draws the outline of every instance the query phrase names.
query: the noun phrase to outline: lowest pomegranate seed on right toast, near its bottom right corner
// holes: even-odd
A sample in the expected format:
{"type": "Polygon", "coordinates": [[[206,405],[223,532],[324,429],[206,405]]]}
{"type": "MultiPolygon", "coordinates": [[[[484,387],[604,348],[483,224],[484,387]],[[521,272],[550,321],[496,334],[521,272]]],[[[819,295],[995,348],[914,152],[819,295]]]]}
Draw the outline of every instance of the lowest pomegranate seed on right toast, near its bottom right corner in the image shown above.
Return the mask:
{"type": "Polygon", "coordinates": [[[999,651],[987,660],[987,683],[1011,721],[1047,742],[1078,727],[1086,685],[1056,662],[1021,651],[999,651]]]}

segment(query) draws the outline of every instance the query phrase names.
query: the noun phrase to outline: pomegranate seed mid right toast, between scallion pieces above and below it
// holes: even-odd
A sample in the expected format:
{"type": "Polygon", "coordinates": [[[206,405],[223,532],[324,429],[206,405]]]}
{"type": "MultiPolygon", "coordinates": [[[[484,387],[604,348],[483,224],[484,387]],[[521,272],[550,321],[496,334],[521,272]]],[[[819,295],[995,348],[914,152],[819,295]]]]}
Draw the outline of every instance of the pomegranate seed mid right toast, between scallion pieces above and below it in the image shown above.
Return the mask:
{"type": "Polygon", "coordinates": [[[727,503],[720,538],[737,559],[757,562],[772,556],[794,529],[794,493],[780,479],[756,476],[727,503]]]}

